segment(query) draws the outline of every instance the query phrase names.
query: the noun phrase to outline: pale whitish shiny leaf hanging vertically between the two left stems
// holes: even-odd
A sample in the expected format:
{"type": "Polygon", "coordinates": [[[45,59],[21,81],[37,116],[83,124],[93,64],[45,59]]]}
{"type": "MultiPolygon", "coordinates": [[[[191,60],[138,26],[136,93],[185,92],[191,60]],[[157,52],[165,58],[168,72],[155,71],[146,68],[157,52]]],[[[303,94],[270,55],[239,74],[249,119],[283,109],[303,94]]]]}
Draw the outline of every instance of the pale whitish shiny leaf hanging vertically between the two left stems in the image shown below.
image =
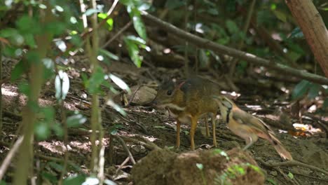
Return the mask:
{"type": "Polygon", "coordinates": [[[55,78],[55,97],[59,102],[65,100],[69,92],[69,77],[66,72],[60,70],[55,78]]]}

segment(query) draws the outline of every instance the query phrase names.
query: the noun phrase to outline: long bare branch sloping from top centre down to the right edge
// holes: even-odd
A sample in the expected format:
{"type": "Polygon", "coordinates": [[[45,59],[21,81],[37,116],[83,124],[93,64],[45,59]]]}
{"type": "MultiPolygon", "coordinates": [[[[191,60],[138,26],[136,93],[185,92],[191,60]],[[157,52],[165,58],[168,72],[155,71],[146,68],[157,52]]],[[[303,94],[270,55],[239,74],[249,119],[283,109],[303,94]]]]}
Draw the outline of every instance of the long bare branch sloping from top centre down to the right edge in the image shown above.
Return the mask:
{"type": "Polygon", "coordinates": [[[286,74],[289,74],[292,76],[297,76],[299,78],[303,78],[308,81],[328,85],[328,78],[325,78],[324,76],[319,76],[316,74],[308,73],[306,71],[293,69],[292,67],[287,67],[278,62],[274,62],[273,60],[266,60],[264,58],[257,57],[256,55],[253,55],[251,53],[245,53],[240,50],[235,50],[234,48],[229,48],[227,46],[223,46],[223,45],[214,43],[210,40],[203,39],[199,36],[190,34],[188,32],[184,32],[182,29],[179,29],[179,28],[175,27],[174,25],[171,25],[168,22],[160,20],[160,19],[154,17],[153,15],[146,13],[145,11],[142,11],[142,16],[144,19],[149,20],[149,21],[155,23],[156,25],[158,25],[159,27],[162,27],[166,31],[170,32],[170,34],[175,34],[176,36],[179,36],[180,39],[188,40],[190,43],[193,43],[198,47],[206,48],[209,50],[216,51],[218,53],[230,55],[232,57],[236,57],[240,60],[245,60],[247,62],[251,62],[254,64],[263,65],[270,69],[282,71],[282,72],[285,72],[286,74]]]}

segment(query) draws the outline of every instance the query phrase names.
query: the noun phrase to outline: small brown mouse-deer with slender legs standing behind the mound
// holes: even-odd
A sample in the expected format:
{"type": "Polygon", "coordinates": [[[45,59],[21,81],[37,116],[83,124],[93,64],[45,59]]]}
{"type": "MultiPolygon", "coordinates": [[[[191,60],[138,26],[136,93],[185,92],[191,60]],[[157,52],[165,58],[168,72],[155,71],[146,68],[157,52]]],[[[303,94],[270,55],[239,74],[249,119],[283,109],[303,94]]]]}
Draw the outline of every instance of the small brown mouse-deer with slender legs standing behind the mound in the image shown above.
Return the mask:
{"type": "Polygon", "coordinates": [[[177,84],[168,81],[160,85],[152,103],[156,107],[167,107],[170,115],[177,119],[177,148],[180,146],[181,123],[191,123],[191,150],[195,149],[194,135],[198,118],[209,113],[212,120],[213,145],[217,146],[215,117],[219,104],[212,99],[213,95],[220,95],[217,84],[200,77],[189,78],[177,84]]]}

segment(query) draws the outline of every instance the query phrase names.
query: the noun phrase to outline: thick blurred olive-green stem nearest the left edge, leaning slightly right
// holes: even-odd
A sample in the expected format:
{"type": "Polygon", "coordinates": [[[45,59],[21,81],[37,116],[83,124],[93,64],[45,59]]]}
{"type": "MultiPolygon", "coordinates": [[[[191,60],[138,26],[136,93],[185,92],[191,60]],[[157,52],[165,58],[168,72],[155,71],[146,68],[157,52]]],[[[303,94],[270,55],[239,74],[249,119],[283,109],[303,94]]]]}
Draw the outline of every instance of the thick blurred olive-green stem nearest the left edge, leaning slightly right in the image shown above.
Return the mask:
{"type": "MultiPolygon", "coordinates": [[[[53,14],[51,13],[50,5],[47,4],[47,9],[40,12],[41,22],[51,22],[53,14]]],[[[30,92],[28,96],[27,104],[22,111],[22,125],[24,139],[22,145],[18,151],[18,163],[15,165],[15,174],[13,177],[13,184],[23,185],[27,184],[27,176],[32,169],[29,167],[32,165],[33,152],[33,135],[34,135],[34,123],[36,122],[36,111],[34,110],[36,105],[39,104],[38,99],[41,91],[41,85],[43,83],[43,63],[42,59],[46,57],[46,53],[52,41],[53,34],[44,32],[39,36],[35,36],[36,53],[39,55],[40,60],[30,62],[30,74],[33,74],[32,78],[29,78],[30,92]]]]}

